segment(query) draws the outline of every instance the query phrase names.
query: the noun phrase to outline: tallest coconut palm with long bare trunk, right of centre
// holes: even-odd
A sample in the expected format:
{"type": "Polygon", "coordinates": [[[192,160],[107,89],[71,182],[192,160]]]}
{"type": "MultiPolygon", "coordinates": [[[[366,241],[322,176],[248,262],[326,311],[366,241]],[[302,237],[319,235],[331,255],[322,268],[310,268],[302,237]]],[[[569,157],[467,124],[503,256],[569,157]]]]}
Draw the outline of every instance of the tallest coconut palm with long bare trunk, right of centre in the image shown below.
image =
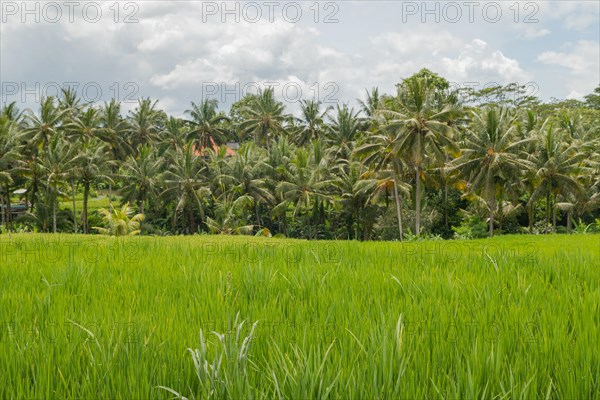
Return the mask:
{"type": "MultiPolygon", "coordinates": [[[[384,102],[385,103],[385,102],[384,102]]],[[[421,180],[428,162],[445,161],[445,153],[455,150],[452,122],[460,114],[456,103],[440,107],[440,94],[426,79],[408,78],[398,86],[397,97],[379,111],[385,129],[398,132],[399,151],[414,170],[415,234],[421,232],[421,180]]]]}

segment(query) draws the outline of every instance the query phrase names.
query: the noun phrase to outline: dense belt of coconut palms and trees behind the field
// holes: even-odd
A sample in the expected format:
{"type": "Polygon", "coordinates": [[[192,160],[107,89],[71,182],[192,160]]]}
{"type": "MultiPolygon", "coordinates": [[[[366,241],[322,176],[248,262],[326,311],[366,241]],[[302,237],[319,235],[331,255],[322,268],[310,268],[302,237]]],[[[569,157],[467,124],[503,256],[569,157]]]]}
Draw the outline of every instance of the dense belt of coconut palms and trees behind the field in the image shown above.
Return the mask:
{"type": "Polygon", "coordinates": [[[184,118],[149,98],[126,114],[115,100],[84,104],[68,88],[34,111],[5,104],[0,232],[97,233],[133,213],[149,235],[600,229],[600,86],[544,103],[516,84],[455,89],[423,69],[396,88],[367,90],[357,108],[302,100],[299,116],[272,89],[229,112],[191,102],[184,118]],[[89,208],[101,194],[109,212],[89,208]],[[15,202],[26,208],[16,218],[15,202]]]}

